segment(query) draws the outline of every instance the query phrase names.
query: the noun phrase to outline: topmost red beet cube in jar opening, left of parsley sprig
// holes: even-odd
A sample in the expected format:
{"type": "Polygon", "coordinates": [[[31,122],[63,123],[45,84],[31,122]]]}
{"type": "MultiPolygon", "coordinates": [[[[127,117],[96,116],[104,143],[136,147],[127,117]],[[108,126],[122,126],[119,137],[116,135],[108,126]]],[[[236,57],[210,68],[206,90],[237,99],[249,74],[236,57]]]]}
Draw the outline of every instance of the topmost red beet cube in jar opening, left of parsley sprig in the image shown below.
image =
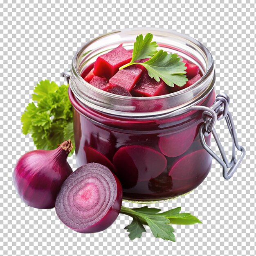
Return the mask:
{"type": "Polygon", "coordinates": [[[132,53],[124,49],[121,44],[97,58],[94,63],[94,74],[110,79],[118,71],[119,67],[129,63],[131,59],[132,53]]]}

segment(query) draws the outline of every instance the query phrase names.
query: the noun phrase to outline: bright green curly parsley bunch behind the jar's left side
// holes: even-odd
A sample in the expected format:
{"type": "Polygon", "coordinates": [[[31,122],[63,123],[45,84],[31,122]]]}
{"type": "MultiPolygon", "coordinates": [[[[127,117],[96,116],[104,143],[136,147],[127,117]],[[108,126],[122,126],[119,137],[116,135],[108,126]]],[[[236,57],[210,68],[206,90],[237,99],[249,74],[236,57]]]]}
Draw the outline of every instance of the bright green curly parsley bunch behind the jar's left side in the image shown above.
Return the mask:
{"type": "MultiPolygon", "coordinates": [[[[34,88],[32,99],[21,116],[23,134],[31,134],[36,148],[52,150],[63,141],[74,144],[72,105],[67,94],[68,85],[58,86],[48,80],[34,88]]],[[[70,154],[74,152],[74,147],[70,154]]]]}

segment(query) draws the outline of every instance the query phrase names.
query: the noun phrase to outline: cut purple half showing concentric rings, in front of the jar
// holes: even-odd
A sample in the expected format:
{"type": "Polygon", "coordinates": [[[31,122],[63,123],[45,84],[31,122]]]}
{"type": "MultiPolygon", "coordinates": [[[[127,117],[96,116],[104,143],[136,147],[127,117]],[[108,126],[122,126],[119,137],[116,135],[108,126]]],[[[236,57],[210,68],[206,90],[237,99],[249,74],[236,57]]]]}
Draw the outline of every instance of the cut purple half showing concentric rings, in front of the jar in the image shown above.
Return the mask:
{"type": "Polygon", "coordinates": [[[86,164],[63,183],[56,199],[58,218],[81,233],[110,227],[119,215],[122,187],[117,177],[101,164],[86,164]]]}

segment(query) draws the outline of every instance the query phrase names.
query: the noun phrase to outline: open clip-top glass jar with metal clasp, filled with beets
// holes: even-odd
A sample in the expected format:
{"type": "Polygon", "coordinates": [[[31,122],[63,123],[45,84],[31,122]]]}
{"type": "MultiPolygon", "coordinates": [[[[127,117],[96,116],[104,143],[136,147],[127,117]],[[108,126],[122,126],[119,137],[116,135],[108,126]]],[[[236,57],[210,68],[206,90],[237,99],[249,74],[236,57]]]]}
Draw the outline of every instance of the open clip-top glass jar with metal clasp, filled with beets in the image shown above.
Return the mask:
{"type": "MultiPolygon", "coordinates": [[[[229,99],[223,95],[216,99],[213,58],[197,40],[164,29],[115,31],[85,44],[75,54],[70,73],[63,76],[70,84],[77,165],[99,162],[110,168],[121,181],[124,199],[152,202],[175,198],[207,177],[212,156],[217,157],[210,149],[211,131],[217,140],[214,123],[224,117],[230,120],[229,99]],[[198,65],[202,78],[186,89],[156,97],[110,94],[83,79],[99,55],[120,43],[132,49],[136,36],[148,32],[158,49],[198,65]]],[[[232,157],[231,162],[224,155],[223,160],[216,159],[226,164],[219,161],[223,174],[232,168],[231,177],[244,150],[230,131],[241,157],[232,157]]]]}

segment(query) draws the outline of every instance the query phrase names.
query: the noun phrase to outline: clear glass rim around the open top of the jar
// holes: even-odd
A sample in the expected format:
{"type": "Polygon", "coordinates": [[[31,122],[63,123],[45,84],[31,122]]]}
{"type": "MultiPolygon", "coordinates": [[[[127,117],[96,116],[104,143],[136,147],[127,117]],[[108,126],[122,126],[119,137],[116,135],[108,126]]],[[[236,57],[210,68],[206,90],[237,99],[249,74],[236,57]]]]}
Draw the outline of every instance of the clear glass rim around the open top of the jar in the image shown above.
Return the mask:
{"type": "MultiPolygon", "coordinates": [[[[135,37],[134,37],[135,38],[135,37]]],[[[161,38],[161,37],[160,37],[161,38]]],[[[113,38],[111,39],[113,40],[113,38]]],[[[127,39],[125,39],[127,40],[127,39]]],[[[117,40],[118,41],[118,40],[117,40]]],[[[134,41],[134,40],[133,40],[134,41]]],[[[158,45],[162,45],[162,43],[158,42],[158,45]]],[[[106,45],[105,45],[106,48],[106,45]]],[[[183,50],[182,48],[177,47],[176,49],[183,50]]],[[[187,52],[187,54],[190,54],[191,58],[195,58],[193,53],[187,52]]],[[[214,67],[213,67],[213,57],[207,47],[202,45],[198,40],[181,34],[177,31],[167,30],[167,29],[159,29],[159,28],[150,28],[150,27],[143,27],[143,28],[129,28],[129,29],[121,29],[117,31],[112,31],[107,34],[103,34],[101,36],[98,36],[92,40],[90,40],[88,43],[85,43],[79,51],[76,52],[74,55],[74,58],[72,60],[72,68],[71,68],[71,76],[70,76],[70,88],[76,97],[76,99],[81,103],[85,104],[86,106],[93,108],[95,110],[101,111],[101,112],[107,112],[112,115],[121,115],[121,116],[156,116],[161,114],[167,114],[167,113],[175,113],[180,112],[186,108],[189,108],[190,106],[196,105],[199,101],[207,97],[207,95],[211,92],[213,89],[215,82],[215,73],[214,73],[214,67]],[[124,35],[134,35],[135,32],[137,34],[146,34],[148,32],[151,32],[153,36],[155,37],[155,34],[161,34],[163,38],[165,38],[165,42],[168,41],[168,38],[174,39],[174,41],[183,43],[183,46],[189,46],[191,49],[195,52],[200,52],[202,54],[202,60],[205,61],[205,71],[197,82],[195,82],[193,85],[189,86],[188,88],[182,89],[178,92],[160,95],[160,96],[153,96],[153,97],[128,97],[128,96],[121,96],[117,94],[111,94],[109,92],[100,90],[98,88],[95,88],[94,86],[90,85],[90,83],[86,82],[82,76],[81,76],[81,70],[79,72],[79,65],[81,67],[81,63],[84,64],[86,62],[86,56],[91,55],[91,51],[95,49],[95,46],[97,48],[97,51],[101,51],[104,49],[102,47],[101,43],[102,41],[106,41],[108,37],[114,36],[115,39],[120,39],[119,42],[116,42],[117,44],[122,42],[122,36],[124,35]],[[120,35],[120,36],[117,36],[120,35]],[[167,40],[166,40],[167,38],[167,40]],[[94,46],[95,44],[95,46],[94,46]],[[81,57],[83,57],[81,59],[81,57]],[[203,86],[204,85],[204,86],[203,86]],[[187,95],[184,97],[184,95],[187,95]],[[99,100],[102,97],[101,100],[99,100]],[[157,111],[136,111],[136,107],[134,108],[124,108],[124,106],[129,107],[129,103],[126,103],[125,101],[132,101],[133,104],[136,105],[136,102],[141,103],[141,106],[152,104],[155,102],[168,102],[172,101],[174,98],[184,98],[184,101],[179,101],[179,104],[176,104],[177,106],[173,106],[171,108],[164,108],[157,111]],[[188,100],[189,99],[189,100],[188,100]],[[120,104],[117,104],[117,107],[113,106],[116,102],[120,104]],[[182,102],[182,104],[180,104],[182,102]],[[112,105],[113,104],[113,105],[112,105]],[[119,105],[122,106],[122,108],[119,108],[119,105]]],[[[133,106],[134,107],[134,106],[133,106]]]]}

